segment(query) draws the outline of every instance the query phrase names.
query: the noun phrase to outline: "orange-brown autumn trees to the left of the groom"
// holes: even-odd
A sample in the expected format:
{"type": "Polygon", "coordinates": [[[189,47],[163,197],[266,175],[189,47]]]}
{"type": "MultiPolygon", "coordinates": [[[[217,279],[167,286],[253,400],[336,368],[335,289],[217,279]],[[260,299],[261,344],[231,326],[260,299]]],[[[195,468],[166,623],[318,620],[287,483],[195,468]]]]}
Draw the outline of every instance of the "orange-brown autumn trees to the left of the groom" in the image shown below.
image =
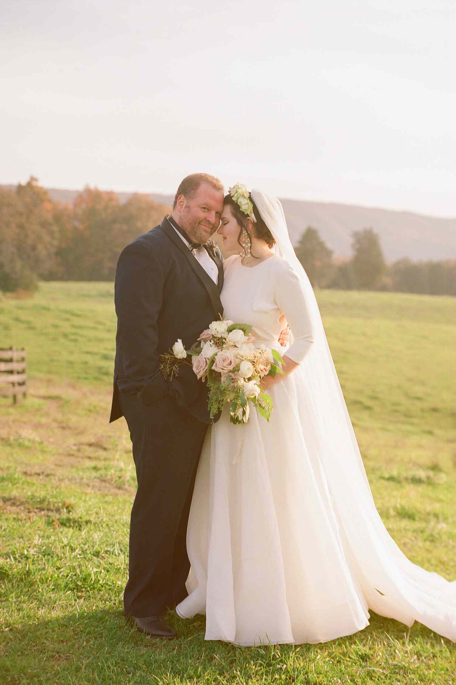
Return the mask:
{"type": "Polygon", "coordinates": [[[110,281],[125,245],[170,211],[146,195],[121,203],[85,188],[75,202],[53,202],[31,177],[0,188],[0,290],[36,290],[38,280],[110,281]]]}

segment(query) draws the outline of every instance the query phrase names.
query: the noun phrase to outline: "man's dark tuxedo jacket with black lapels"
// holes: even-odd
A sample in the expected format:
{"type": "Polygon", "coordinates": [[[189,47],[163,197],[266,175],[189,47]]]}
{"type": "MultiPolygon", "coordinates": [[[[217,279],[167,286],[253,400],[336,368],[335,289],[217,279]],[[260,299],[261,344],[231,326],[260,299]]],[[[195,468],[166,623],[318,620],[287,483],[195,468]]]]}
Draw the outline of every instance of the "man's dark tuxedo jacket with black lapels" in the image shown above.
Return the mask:
{"type": "Polygon", "coordinates": [[[223,314],[222,254],[219,249],[207,251],[217,264],[217,285],[167,217],[120,254],[114,286],[118,325],[110,423],[122,416],[120,391],[137,395],[144,405],[170,393],[196,419],[211,423],[207,386],[191,366],[180,366],[172,381],[159,369],[160,355],[178,338],[189,349],[223,314]]]}

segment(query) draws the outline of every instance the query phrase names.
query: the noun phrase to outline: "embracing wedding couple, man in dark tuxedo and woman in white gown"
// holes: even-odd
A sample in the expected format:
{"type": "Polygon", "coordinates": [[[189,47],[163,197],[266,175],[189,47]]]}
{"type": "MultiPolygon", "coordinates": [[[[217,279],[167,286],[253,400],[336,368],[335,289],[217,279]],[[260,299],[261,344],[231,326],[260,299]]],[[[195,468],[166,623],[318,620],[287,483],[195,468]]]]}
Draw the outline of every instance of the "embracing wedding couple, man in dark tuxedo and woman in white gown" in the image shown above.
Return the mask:
{"type": "Polygon", "coordinates": [[[138,630],[175,637],[163,619],[175,608],[206,614],[207,640],[319,643],[362,630],[371,609],[456,640],[456,582],[412,564],[375,508],[280,202],[185,178],[172,216],[122,251],[115,299],[110,420],[124,415],[133,443],[124,612],[138,630]],[[215,231],[240,254],[223,261],[215,231]],[[284,358],[263,382],[269,423],[251,408],[232,425],[228,407],[211,423],[189,366],[160,373],[161,353],[220,315],[284,358]]]}

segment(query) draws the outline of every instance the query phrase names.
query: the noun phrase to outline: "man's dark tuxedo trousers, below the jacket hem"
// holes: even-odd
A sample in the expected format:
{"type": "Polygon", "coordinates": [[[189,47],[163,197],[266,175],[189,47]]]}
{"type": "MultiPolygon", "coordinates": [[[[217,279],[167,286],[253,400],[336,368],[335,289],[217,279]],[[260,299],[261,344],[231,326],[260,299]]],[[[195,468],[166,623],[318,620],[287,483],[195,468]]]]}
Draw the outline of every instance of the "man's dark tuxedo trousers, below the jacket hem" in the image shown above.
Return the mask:
{"type": "Polygon", "coordinates": [[[119,395],[137,476],[124,612],[155,616],[187,597],[187,523],[207,425],[171,395],[149,406],[119,395]]]}

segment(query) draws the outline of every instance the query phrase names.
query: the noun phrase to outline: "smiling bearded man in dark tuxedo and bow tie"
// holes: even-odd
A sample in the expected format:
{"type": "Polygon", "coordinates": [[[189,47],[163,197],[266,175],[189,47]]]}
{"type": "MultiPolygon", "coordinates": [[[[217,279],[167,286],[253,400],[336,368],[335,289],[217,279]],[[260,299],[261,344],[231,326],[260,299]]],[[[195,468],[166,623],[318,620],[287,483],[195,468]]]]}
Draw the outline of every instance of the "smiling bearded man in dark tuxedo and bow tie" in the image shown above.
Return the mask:
{"type": "MultiPolygon", "coordinates": [[[[187,597],[187,521],[204,434],[206,385],[190,366],[171,382],[160,355],[181,338],[191,346],[223,314],[222,254],[207,240],[224,208],[224,186],[187,176],[172,216],[122,251],[115,282],[118,316],[111,421],[124,416],[133,443],[137,493],[131,511],[124,613],[138,630],[173,638],[167,607],[187,597]]],[[[212,242],[212,241],[211,241],[212,242]]]]}

